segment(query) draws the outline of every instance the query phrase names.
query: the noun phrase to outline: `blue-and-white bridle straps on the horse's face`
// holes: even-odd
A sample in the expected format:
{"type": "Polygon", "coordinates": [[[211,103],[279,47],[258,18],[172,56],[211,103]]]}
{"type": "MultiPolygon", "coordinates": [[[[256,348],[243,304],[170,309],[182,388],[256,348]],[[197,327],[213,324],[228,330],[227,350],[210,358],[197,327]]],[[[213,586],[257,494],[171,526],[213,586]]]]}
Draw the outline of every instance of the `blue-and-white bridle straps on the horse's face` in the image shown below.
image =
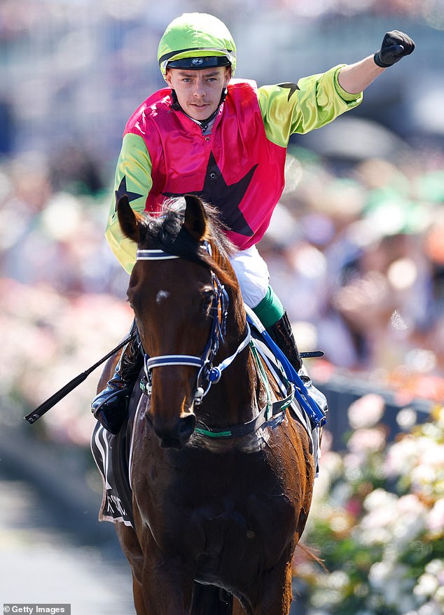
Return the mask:
{"type": "MultiPolygon", "coordinates": [[[[207,249],[208,254],[211,255],[211,247],[208,242],[204,243],[204,247],[207,249]]],[[[175,254],[169,254],[163,250],[137,250],[136,258],[137,261],[166,261],[172,258],[181,257],[175,254]]],[[[172,365],[190,365],[199,369],[195,394],[193,396],[194,403],[198,405],[202,403],[202,399],[209,392],[211,385],[221,379],[223,370],[232,364],[237,355],[249,345],[251,333],[249,324],[247,323],[247,334],[237,347],[237,350],[217,366],[213,365],[219,346],[223,343],[224,336],[226,335],[229,298],[226,289],[213,271],[211,271],[211,281],[214,288],[213,300],[211,303],[211,331],[207,345],[204,348],[204,352],[202,352],[202,356],[197,357],[193,354],[161,354],[158,357],[149,357],[148,354],[145,354],[144,365],[147,381],[145,388],[148,394],[151,392],[152,387],[151,371],[153,368],[172,365]]]]}

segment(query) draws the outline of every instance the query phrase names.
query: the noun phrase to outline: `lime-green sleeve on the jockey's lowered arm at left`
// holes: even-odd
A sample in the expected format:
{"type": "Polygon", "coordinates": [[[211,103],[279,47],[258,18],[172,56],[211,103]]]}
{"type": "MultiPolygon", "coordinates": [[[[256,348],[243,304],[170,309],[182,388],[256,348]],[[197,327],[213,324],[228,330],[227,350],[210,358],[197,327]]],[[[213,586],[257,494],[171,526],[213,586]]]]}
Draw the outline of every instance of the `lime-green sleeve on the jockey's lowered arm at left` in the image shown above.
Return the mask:
{"type": "MultiPolygon", "coordinates": [[[[127,193],[134,212],[144,212],[146,198],[153,185],[151,169],[151,158],[144,139],[137,134],[125,134],[116,167],[114,194],[127,193]]],[[[105,237],[120,265],[131,273],[136,262],[137,246],[120,230],[115,196],[109,209],[105,237]]]]}

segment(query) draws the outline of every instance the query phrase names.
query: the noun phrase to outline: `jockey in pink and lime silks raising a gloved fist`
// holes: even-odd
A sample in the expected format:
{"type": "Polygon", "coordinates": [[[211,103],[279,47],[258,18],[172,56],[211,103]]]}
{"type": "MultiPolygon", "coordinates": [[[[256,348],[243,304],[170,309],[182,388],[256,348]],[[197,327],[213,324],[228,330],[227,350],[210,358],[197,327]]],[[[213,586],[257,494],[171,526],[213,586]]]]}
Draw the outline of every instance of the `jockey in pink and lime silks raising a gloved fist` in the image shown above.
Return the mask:
{"type": "MultiPolygon", "coordinates": [[[[123,134],[106,228],[120,264],[130,273],[137,248],[120,230],[116,202],[121,195],[127,194],[134,211],[154,215],[168,198],[199,195],[218,208],[238,249],[231,262],[245,303],[311,385],[256,244],[284,189],[291,134],[319,128],[356,107],[362,91],[414,48],[395,30],[384,36],[375,55],[356,64],[258,88],[254,81],[233,78],[236,46],[223,22],[204,13],[173,20],[158,48],[167,87],[134,111],[123,134]]],[[[136,338],[124,347],[116,373],[92,402],[95,417],[112,433],[125,419],[140,367],[136,338]]]]}

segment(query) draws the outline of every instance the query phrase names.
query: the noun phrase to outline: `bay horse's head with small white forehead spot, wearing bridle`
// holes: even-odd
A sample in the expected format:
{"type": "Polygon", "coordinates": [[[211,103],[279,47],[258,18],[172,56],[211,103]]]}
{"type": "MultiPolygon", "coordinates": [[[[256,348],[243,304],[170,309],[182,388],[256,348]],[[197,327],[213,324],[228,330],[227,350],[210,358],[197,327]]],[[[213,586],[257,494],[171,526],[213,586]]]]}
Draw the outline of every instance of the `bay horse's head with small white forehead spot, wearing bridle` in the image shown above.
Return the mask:
{"type": "Polygon", "coordinates": [[[123,233],[138,248],[127,297],[146,353],[147,418],[163,446],[181,448],[195,429],[193,407],[211,384],[212,361],[224,352],[226,289],[230,314],[240,309],[230,244],[214,210],[195,196],[156,218],[134,213],[126,196],[117,209],[123,233]]]}

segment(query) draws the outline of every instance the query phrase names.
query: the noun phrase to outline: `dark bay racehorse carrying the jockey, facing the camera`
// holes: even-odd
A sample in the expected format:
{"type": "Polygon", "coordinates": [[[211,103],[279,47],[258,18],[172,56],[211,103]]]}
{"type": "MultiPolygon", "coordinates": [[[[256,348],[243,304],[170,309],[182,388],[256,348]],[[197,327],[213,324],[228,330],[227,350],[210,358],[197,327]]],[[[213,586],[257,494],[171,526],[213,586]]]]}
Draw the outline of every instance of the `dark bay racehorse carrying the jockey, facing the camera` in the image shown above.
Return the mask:
{"type": "Polygon", "coordinates": [[[137,244],[127,298],[145,353],[146,394],[130,401],[134,527],[116,525],[135,609],[288,615],[312,443],[289,408],[263,420],[282,394],[249,343],[233,247],[216,209],[181,202],[157,218],[126,195],[117,205],[137,244]]]}

